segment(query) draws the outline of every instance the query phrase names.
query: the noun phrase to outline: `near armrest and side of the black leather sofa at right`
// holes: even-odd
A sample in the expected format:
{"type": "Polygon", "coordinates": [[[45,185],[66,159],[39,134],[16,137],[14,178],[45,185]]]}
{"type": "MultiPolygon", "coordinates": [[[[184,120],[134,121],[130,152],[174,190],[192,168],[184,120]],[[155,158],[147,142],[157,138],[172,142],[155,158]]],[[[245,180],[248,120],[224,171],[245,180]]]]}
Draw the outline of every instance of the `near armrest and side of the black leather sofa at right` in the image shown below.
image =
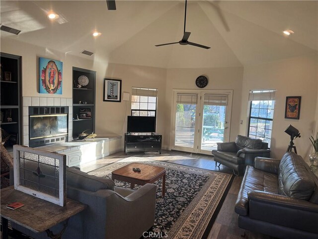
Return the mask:
{"type": "Polygon", "coordinates": [[[318,233],[317,204],[262,191],[250,191],[247,195],[251,219],[318,233]]]}

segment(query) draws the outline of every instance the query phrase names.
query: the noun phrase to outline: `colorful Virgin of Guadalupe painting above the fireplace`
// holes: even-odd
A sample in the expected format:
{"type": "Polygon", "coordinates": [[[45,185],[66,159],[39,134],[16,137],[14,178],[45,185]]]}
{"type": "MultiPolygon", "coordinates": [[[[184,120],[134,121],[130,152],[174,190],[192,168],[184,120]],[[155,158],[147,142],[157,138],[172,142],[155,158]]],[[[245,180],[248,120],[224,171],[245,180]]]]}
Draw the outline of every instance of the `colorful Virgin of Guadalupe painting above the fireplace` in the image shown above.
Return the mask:
{"type": "Polygon", "coordinates": [[[62,94],[63,62],[47,58],[39,58],[40,93],[62,94]]]}

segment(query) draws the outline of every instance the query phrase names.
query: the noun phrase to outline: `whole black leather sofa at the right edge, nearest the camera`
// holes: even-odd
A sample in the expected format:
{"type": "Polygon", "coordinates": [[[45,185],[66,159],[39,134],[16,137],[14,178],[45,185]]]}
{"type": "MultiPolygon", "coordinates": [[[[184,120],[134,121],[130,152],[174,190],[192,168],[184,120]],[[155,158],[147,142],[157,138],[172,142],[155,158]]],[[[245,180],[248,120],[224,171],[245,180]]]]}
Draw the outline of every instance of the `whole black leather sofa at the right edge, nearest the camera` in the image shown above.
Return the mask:
{"type": "Polygon", "coordinates": [[[318,238],[318,179],[294,152],[247,166],[235,212],[242,229],[283,239],[318,238]]]}

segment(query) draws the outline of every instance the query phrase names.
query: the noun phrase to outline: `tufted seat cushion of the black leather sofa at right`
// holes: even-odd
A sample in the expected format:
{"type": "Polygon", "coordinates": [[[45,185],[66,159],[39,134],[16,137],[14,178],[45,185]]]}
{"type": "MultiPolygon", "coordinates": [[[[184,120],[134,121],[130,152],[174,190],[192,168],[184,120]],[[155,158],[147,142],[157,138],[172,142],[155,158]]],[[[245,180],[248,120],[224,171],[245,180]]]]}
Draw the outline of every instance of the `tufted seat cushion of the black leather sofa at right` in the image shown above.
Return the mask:
{"type": "Polygon", "coordinates": [[[253,190],[278,194],[277,175],[247,165],[235,204],[235,212],[248,215],[247,193],[253,190]]]}

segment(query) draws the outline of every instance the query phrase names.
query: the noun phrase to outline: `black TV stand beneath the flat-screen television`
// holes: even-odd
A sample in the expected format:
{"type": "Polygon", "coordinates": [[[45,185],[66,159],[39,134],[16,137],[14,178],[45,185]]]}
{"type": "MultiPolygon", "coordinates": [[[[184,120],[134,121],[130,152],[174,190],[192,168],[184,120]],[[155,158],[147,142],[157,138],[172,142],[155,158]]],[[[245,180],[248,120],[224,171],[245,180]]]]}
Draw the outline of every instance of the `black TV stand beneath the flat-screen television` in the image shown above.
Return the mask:
{"type": "Polygon", "coordinates": [[[158,133],[125,133],[125,153],[158,151],[161,154],[162,135],[158,133]]]}

